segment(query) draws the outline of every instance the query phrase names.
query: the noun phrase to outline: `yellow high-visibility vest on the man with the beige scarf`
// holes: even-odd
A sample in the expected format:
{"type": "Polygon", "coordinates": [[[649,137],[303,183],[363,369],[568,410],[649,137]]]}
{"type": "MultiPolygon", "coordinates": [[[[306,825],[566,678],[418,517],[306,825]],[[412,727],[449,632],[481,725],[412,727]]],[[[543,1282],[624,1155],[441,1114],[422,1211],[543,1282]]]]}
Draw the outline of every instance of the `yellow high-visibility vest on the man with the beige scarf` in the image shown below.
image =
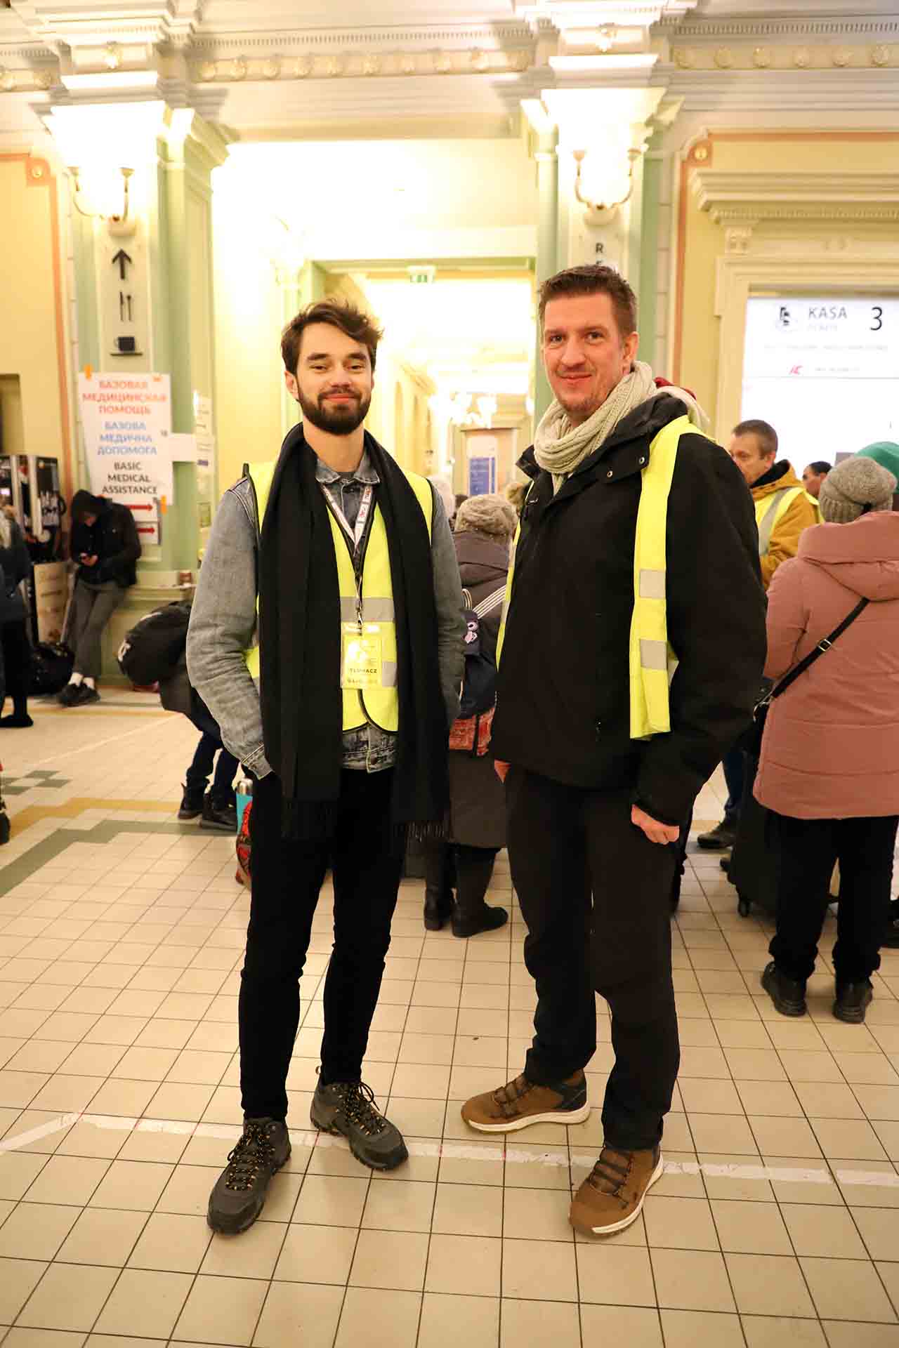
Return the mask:
{"type": "MultiPolygon", "coordinates": [[[[666,604],[666,528],[669,495],[681,435],[700,435],[689,417],[678,417],[658,433],[643,466],[633,545],[633,615],[631,617],[631,739],[644,740],[671,729],[669,685],[677,656],[669,642],[666,604]]],[[[520,535],[515,535],[515,545],[520,535]]],[[[512,603],[515,545],[505,586],[505,605],[496,646],[499,667],[505,620],[512,603]]]]}

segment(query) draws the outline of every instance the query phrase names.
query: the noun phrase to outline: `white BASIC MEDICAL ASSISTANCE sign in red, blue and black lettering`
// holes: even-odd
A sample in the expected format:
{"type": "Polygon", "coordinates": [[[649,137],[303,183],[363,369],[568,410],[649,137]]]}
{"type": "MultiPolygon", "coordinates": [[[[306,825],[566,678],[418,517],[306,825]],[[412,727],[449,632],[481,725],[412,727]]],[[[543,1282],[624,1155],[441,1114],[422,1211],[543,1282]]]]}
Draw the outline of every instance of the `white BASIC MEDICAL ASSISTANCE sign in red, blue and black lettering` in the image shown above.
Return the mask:
{"type": "Polygon", "coordinates": [[[78,375],[81,425],[94,496],[121,506],[173,500],[168,375],[78,375]]]}

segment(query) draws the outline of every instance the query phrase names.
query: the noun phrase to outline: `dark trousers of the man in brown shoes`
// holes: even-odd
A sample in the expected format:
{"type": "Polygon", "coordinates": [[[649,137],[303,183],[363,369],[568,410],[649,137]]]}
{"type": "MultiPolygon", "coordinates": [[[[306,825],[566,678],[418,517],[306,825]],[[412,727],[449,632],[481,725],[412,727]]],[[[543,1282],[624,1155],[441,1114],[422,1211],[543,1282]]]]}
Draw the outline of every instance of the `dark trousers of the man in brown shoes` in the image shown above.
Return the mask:
{"type": "Polygon", "coordinates": [[[550,1085],[586,1066],[596,1051],[596,989],[612,1011],[615,1049],[605,1140],[652,1147],[681,1062],[671,983],[675,851],[631,824],[628,791],[584,791],[514,767],[505,801],[524,962],[538,995],[524,1073],[550,1085]]]}

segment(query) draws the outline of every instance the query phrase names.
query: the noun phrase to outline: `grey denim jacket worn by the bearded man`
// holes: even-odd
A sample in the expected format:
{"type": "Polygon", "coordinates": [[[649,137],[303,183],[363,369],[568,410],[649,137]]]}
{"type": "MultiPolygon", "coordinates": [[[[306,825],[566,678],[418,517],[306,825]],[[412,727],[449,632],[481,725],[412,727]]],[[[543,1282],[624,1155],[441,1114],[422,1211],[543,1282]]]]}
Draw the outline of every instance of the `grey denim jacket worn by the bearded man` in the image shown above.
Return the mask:
{"type": "MultiPolygon", "coordinates": [[[[325,476],[329,474],[330,470],[325,476]]],[[[453,535],[439,493],[431,489],[431,495],[437,654],[449,732],[458,716],[465,620],[453,535]]],[[[216,512],[187,630],[187,671],[218,721],[225,747],[256,776],[267,776],[271,764],[263,748],[259,687],[244,659],[244,651],[257,639],[257,546],[256,496],[252,483],[244,477],[225,492],[216,512]]],[[[392,745],[383,743],[391,737],[381,735],[379,740],[372,735],[369,739],[367,731],[345,736],[345,767],[376,771],[392,762],[392,745]]]]}

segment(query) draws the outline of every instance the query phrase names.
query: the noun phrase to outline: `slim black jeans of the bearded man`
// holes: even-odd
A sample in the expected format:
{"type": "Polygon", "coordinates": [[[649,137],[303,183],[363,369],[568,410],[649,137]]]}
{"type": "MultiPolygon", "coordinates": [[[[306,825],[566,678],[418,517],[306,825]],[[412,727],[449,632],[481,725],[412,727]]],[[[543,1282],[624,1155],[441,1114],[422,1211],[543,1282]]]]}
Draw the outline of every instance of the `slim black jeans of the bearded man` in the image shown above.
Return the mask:
{"type": "Polygon", "coordinates": [[[341,772],[328,842],[280,834],[280,782],[261,778],[251,814],[252,899],[240,981],[240,1085],[248,1117],[287,1116],[287,1069],[318,892],[334,875],[334,949],[325,979],[319,1081],[359,1081],[403,869],[391,825],[392,770],[341,772]]]}

